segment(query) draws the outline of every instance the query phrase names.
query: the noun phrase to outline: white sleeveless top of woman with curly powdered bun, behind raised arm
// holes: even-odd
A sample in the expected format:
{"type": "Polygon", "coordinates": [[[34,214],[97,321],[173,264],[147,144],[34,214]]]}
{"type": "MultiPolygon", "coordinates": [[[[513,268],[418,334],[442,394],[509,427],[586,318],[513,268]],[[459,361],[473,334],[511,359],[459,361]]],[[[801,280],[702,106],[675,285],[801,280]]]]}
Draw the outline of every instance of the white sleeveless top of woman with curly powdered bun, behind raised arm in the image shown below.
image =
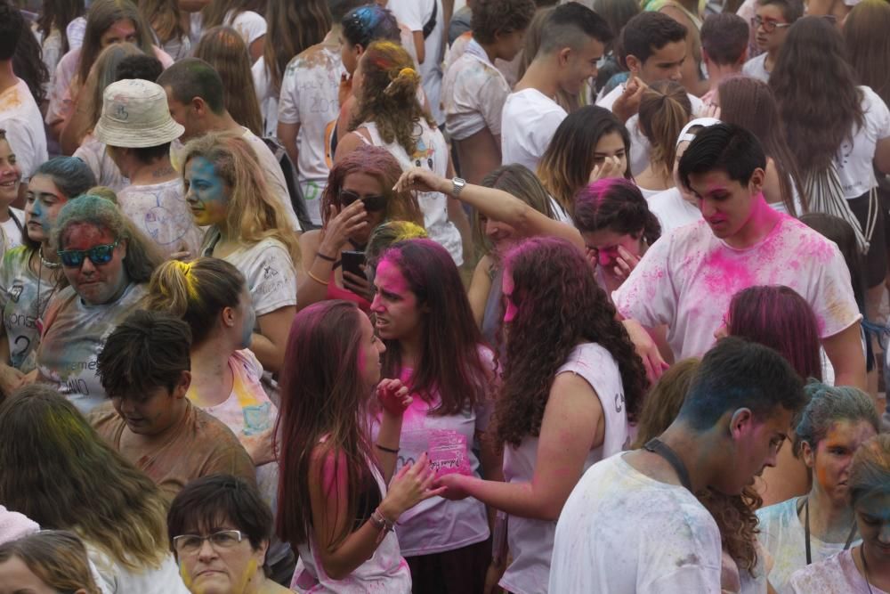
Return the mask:
{"type": "MultiPolygon", "coordinates": [[[[403,171],[411,167],[425,167],[441,177],[448,173],[449,152],[445,137],[438,128],[431,128],[424,119],[420,120],[416,129],[417,151],[410,156],[399,142],[384,142],[374,122],[365,122],[359,126],[359,129],[362,128],[368,131],[371,137],[370,144],[389,151],[399,161],[403,171]]],[[[368,143],[364,135],[359,134],[359,137],[368,143]]],[[[424,226],[430,239],[447,249],[455,264],[458,266],[463,264],[460,232],[448,217],[448,197],[438,191],[418,192],[417,202],[424,212],[424,226]]]]}

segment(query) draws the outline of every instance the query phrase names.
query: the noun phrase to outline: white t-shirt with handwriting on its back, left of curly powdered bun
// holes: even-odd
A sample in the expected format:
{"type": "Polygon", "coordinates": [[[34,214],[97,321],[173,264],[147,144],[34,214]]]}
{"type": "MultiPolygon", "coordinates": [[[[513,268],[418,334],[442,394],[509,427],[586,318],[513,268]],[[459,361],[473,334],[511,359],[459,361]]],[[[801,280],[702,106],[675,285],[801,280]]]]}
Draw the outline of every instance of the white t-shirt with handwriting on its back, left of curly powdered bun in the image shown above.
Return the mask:
{"type": "Polygon", "coordinates": [[[328,185],[333,166],[328,139],[340,115],[340,77],[346,73],[336,38],[331,34],[287,64],[281,79],[278,121],[299,124],[296,162],[303,199],[312,223],[321,224],[321,192],[328,185]]]}

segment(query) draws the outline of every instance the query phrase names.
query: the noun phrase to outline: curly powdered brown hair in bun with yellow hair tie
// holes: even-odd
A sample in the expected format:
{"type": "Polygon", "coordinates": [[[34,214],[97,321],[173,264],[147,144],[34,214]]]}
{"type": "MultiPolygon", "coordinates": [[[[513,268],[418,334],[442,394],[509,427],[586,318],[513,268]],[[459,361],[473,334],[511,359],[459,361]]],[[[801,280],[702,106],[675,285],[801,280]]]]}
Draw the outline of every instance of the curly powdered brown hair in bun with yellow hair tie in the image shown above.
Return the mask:
{"type": "Polygon", "coordinates": [[[375,41],[360,58],[364,74],[361,97],[349,129],[374,122],[384,142],[398,142],[409,156],[417,151],[417,125],[429,118],[417,101],[420,74],[414,60],[401,45],[375,41]]]}

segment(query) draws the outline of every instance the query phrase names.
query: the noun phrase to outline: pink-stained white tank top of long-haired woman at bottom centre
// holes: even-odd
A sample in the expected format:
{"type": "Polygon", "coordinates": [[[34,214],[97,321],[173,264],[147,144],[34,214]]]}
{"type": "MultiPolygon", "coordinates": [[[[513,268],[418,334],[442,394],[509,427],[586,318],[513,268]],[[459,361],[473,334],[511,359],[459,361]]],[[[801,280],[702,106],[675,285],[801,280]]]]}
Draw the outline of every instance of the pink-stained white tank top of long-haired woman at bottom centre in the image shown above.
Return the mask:
{"type": "MultiPolygon", "coordinates": [[[[381,498],[384,497],[386,494],[384,477],[370,461],[368,461],[368,468],[380,488],[381,498]]],[[[296,551],[300,558],[296,561],[294,578],[290,583],[291,588],[296,591],[307,594],[310,592],[312,594],[320,592],[330,594],[365,594],[366,592],[409,594],[411,591],[411,572],[408,563],[401,556],[399,539],[394,532],[387,533],[374,551],[374,555],[343,580],[335,580],[325,573],[312,533],[310,533],[309,541],[299,545],[296,551]]]]}

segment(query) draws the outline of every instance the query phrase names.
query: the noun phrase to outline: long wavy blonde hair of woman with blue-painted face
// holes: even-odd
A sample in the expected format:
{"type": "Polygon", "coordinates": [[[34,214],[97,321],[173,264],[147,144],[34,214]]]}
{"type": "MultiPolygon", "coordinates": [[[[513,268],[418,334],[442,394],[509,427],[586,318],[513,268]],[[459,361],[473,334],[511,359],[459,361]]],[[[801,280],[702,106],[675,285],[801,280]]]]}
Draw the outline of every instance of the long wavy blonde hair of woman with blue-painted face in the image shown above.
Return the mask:
{"type": "Polygon", "coordinates": [[[287,214],[272,198],[263,167],[250,143],[240,134],[210,133],[185,145],[182,175],[191,159],[202,157],[214,165],[216,175],[231,189],[226,207],[226,226],[243,243],[265,239],[279,240],[287,247],[294,264],[300,261],[300,247],[287,222],[287,214]]]}

